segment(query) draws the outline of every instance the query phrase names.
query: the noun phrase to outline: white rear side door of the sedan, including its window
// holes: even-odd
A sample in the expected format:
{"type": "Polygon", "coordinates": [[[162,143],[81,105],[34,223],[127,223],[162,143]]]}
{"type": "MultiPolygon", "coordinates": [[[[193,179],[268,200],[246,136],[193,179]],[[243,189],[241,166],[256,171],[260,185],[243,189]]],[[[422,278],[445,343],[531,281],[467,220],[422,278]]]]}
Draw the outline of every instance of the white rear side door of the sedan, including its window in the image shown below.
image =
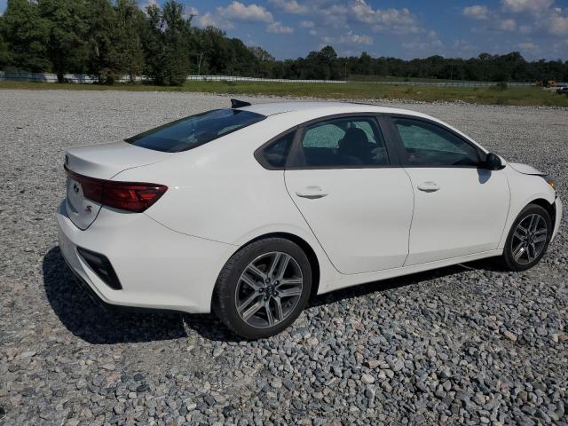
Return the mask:
{"type": "Polygon", "coordinates": [[[301,126],[284,174],[290,197],[339,272],[404,264],[412,186],[374,116],[301,126]]]}

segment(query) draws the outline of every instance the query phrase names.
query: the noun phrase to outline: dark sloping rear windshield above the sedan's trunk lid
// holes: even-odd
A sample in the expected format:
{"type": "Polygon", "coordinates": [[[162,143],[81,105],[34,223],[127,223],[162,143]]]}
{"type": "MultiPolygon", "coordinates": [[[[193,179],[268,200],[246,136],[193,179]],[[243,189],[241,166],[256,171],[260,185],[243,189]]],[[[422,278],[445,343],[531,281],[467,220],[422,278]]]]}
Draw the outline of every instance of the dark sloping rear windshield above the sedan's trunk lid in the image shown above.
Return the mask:
{"type": "Polygon", "coordinates": [[[240,130],[265,116],[239,109],[215,109],[147,130],[126,142],[164,153],[179,153],[240,130]]]}

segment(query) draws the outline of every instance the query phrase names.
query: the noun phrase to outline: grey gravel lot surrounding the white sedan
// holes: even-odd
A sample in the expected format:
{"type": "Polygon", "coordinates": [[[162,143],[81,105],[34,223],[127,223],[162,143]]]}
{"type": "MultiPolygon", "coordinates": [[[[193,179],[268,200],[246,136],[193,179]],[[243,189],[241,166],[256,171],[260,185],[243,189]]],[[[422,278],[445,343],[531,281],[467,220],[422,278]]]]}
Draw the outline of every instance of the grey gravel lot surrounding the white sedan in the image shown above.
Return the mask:
{"type": "MultiPolygon", "coordinates": [[[[0,91],[0,423],[568,423],[565,228],[531,271],[469,264],[319,296],[260,342],[212,315],[93,304],[57,245],[64,150],[226,105],[0,91]]],[[[404,106],[549,171],[568,199],[566,109],[404,106]]]]}

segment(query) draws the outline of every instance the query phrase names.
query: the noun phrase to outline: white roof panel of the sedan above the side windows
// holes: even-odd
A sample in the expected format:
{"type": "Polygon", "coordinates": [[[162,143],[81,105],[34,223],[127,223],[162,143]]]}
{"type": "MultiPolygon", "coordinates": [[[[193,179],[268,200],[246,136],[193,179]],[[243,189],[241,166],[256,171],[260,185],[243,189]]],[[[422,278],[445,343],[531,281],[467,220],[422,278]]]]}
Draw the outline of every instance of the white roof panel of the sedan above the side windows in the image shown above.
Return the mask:
{"type": "Polygon", "coordinates": [[[321,116],[331,115],[331,114],[350,114],[350,113],[384,113],[384,114],[408,114],[408,115],[428,117],[428,115],[417,113],[416,111],[410,111],[400,108],[391,108],[388,106],[372,105],[372,104],[363,104],[363,103],[359,104],[356,102],[327,102],[327,101],[269,102],[264,104],[242,106],[239,109],[267,116],[275,114],[300,112],[300,111],[310,111],[311,113],[319,113],[319,115],[321,116]]]}

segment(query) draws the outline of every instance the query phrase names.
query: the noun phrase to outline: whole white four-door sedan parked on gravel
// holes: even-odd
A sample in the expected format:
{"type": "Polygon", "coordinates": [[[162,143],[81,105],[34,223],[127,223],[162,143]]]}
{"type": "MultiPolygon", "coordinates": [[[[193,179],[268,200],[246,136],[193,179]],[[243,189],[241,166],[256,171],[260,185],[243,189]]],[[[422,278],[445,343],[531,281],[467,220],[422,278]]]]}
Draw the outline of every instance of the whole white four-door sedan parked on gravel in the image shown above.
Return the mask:
{"type": "Polygon", "coordinates": [[[67,151],[59,246],[108,304],[279,333],[313,294],[499,256],[539,262],[554,182],[428,115],[328,102],[193,115],[67,151]]]}

